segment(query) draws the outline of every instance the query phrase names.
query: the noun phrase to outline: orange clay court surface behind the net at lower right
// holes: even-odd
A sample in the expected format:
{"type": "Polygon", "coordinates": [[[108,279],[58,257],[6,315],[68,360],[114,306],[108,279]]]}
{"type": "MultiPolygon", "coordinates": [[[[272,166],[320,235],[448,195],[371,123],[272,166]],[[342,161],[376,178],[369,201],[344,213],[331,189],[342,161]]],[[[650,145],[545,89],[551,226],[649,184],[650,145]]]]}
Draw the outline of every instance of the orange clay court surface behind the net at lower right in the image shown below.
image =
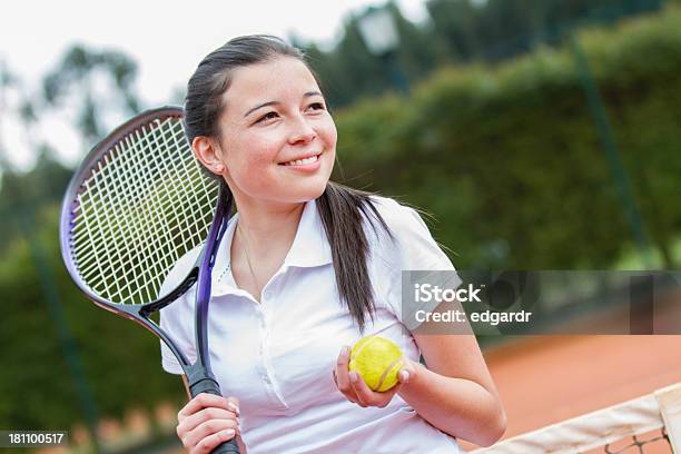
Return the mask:
{"type": "Polygon", "coordinates": [[[484,354],[506,409],[502,440],[677,383],[680,352],[678,335],[527,336],[492,347],[484,354]]]}

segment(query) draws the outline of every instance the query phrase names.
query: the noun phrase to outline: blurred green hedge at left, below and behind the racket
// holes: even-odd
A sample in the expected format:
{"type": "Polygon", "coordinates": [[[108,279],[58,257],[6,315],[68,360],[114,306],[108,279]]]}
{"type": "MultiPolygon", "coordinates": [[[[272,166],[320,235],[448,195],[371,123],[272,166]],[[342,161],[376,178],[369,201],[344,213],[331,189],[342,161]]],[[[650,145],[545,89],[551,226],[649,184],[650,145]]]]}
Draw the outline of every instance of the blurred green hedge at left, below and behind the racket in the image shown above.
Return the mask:
{"type": "Polygon", "coordinates": [[[56,233],[59,207],[42,210],[2,255],[0,293],[0,425],[69,428],[85,421],[72,371],[65,361],[58,319],[50,316],[36,259],[47,260],[100,416],[120,417],[131,406],[180,402],[181,383],[160,369],[158,339],[136,324],[97,308],[67,276],[56,233]],[[31,253],[30,248],[39,248],[31,253]]]}

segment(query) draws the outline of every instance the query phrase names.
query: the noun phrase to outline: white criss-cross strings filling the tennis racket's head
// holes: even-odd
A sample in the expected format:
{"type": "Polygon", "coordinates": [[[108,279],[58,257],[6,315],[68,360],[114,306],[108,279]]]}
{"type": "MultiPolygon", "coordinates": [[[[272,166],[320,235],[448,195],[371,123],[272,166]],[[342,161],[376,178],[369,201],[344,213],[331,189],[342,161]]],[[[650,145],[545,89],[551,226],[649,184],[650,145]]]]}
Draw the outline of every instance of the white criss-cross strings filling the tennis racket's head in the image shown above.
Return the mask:
{"type": "Polygon", "coordinates": [[[217,194],[181,119],[156,119],[128,134],[78,195],[70,240],[81,278],[111,303],[158,298],[177,260],[205,240],[217,194]]]}

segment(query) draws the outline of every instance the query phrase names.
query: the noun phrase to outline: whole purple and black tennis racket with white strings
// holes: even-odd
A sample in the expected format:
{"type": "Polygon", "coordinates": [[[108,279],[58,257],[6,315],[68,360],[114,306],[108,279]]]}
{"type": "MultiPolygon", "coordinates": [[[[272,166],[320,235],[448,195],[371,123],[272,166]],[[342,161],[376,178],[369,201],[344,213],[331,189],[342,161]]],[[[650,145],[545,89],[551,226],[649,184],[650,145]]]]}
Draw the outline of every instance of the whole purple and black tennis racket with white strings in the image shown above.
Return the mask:
{"type": "MultiPolygon", "coordinates": [[[[61,255],[88,298],[166,343],[187,375],[191,396],[221,395],[210,372],[206,323],[211,269],[231,195],[201,174],[182,118],[177,107],[149,110],[95,146],[63,199],[61,255]],[[201,253],[181,284],[160,295],[177,260],[198,247],[201,253]],[[151,316],[195,284],[197,358],[190,363],[151,316]]],[[[236,437],[213,452],[238,453],[236,437]]]]}

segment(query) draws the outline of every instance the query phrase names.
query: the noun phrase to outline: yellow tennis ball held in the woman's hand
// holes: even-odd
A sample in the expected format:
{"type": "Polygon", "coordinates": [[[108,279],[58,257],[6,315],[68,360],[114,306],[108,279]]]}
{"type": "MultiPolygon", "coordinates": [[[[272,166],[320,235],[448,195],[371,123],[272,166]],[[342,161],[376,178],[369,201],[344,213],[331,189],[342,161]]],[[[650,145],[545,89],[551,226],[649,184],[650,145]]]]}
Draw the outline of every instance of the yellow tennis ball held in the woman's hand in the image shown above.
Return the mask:
{"type": "Polygon", "coordinates": [[[402,351],[391,339],[366,336],[351,351],[349,369],[357,372],[373,391],[391,389],[398,382],[403,366],[402,351]]]}

